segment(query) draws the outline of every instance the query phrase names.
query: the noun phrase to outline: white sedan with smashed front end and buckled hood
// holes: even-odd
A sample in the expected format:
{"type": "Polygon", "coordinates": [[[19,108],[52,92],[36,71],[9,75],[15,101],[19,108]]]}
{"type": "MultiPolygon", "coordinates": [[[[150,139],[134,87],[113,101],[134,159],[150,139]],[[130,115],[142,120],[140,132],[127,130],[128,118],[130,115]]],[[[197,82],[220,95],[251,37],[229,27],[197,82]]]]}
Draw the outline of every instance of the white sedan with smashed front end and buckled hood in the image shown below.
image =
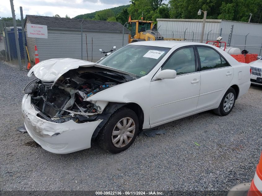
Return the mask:
{"type": "Polygon", "coordinates": [[[185,41],[140,41],[92,63],[50,59],[28,73],[27,132],[57,154],[91,147],[126,150],[140,130],[199,112],[228,115],[250,87],[250,65],[220,48],[185,41]]]}

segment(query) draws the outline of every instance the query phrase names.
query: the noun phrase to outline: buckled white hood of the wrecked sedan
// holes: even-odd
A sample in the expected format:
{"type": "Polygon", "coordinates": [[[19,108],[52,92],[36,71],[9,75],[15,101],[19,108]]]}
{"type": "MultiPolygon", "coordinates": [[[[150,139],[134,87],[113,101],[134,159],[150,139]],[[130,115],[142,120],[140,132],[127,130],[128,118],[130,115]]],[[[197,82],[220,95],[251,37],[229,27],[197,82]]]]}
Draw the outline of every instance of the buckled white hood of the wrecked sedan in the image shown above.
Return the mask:
{"type": "Polygon", "coordinates": [[[71,69],[76,69],[79,67],[92,67],[92,66],[128,74],[131,76],[136,76],[135,74],[115,68],[110,68],[108,66],[101,65],[98,63],[93,63],[90,61],[84,61],[79,59],[69,59],[69,58],[49,59],[49,60],[41,61],[40,63],[37,63],[35,66],[33,66],[33,68],[30,69],[27,76],[30,77],[32,74],[34,74],[38,79],[42,81],[53,81],[55,83],[60,76],[62,76],[64,73],[68,72],[71,69]]]}

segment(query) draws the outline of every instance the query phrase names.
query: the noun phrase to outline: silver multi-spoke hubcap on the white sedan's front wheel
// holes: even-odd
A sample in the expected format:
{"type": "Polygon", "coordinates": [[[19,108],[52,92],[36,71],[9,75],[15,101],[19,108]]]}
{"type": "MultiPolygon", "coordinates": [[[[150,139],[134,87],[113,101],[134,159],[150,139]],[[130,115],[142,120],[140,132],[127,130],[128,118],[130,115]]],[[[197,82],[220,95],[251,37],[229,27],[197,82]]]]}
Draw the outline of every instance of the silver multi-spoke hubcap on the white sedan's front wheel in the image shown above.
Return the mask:
{"type": "Polygon", "coordinates": [[[113,145],[122,148],[132,140],[135,134],[135,122],[129,117],[122,118],[112,132],[113,145]]]}

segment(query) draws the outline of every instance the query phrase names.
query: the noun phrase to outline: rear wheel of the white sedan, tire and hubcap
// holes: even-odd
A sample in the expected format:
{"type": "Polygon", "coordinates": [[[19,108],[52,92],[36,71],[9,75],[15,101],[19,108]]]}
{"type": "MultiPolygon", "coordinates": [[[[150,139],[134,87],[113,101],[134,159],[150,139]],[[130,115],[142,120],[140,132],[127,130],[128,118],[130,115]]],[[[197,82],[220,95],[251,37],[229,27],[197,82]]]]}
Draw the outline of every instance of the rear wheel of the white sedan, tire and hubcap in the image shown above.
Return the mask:
{"type": "Polygon", "coordinates": [[[230,87],[222,98],[219,107],[213,111],[220,116],[228,115],[235,105],[236,98],[236,91],[230,87]]]}

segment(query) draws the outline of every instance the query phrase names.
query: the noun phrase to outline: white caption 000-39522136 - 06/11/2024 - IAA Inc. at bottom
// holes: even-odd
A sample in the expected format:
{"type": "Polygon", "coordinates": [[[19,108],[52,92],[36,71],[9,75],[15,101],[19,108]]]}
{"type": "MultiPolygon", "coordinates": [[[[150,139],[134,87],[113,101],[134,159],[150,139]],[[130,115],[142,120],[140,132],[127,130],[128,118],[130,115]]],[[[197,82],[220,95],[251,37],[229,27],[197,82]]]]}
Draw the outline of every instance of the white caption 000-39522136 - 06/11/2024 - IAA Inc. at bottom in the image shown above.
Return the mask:
{"type": "Polygon", "coordinates": [[[95,195],[163,195],[159,191],[96,191],[95,195]]]}

